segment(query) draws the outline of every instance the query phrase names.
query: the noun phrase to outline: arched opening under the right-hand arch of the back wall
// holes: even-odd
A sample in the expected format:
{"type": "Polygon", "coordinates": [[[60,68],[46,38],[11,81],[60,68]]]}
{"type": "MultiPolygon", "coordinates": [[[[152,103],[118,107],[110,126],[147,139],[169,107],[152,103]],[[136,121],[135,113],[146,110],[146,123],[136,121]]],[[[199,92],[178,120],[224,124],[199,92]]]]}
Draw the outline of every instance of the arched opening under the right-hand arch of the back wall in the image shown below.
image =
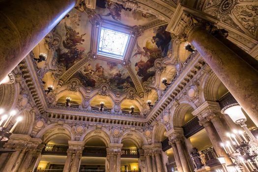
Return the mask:
{"type": "Polygon", "coordinates": [[[137,143],[132,139],[122,140],[121,171],[139,170],[139,149],[137,143]]]}

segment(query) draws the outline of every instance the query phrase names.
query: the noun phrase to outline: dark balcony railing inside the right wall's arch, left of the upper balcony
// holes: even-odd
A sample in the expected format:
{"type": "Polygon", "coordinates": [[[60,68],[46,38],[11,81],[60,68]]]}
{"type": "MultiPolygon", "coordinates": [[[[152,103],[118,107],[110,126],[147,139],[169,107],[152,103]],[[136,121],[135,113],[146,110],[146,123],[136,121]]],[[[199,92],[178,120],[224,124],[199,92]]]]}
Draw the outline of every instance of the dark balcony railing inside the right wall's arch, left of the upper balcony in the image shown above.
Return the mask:
{"type": "Polygon", "coordinates": [[[198,117],[194,117],[183,126],[184,135],[186,138],[189,138],[201,131],[203,128],[203,126],[199,125],[198,117]]]}

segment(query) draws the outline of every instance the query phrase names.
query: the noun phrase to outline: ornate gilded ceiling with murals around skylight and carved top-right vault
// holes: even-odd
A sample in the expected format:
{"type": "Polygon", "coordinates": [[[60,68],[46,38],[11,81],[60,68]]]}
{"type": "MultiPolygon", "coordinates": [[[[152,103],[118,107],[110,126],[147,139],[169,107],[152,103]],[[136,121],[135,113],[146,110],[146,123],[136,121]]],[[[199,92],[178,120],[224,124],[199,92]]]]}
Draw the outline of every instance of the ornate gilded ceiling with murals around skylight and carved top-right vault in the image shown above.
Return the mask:
{"type": "MultiPolygon", "coordinates": [[[[251,52],[258,43],[256,1],[180,2],[217,17],[218,27],[229,31],[228,39],[251,52]]],[[[54,86],[54,91],[45,96],[47,102],[53,106],[58,102],[65,104],[68,96],[71,103],[83,110],[100,106],[103,101],[105,108],[114,110],[112,113],[129,112],[130,106],[135,106],[136,112],[151,115],[146,101],[159,106],[167,91],[161,79],[175,82],[189,58],[196,56],[185,50],[185,42],[166,31],[176,3],[176,0],[96,0],[92,7],[82,4],[71,10],[33,50],[35,57],[39,53],[48,56],[46,61],[37,63],[44,89],[54,86]],[[98,33],[103,26],[128,34],[130,41],[123,58],[99,56],[98,33]]],[[[258,57],[258,53],[254,51],[252,56],[258,57]]]]}

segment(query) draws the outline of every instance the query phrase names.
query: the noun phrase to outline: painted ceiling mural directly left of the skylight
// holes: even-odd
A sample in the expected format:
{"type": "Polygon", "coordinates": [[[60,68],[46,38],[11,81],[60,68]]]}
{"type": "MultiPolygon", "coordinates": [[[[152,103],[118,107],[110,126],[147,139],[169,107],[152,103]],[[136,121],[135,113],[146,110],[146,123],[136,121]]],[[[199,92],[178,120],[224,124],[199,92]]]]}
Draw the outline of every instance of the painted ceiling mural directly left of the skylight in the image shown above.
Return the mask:
{"type": "Polygon", "coordinates": [[[67,70],[90,51],[91,24],[86,13],[73,9],[60,21],[55,31],[62,37],[55,56],[67,70]]]}

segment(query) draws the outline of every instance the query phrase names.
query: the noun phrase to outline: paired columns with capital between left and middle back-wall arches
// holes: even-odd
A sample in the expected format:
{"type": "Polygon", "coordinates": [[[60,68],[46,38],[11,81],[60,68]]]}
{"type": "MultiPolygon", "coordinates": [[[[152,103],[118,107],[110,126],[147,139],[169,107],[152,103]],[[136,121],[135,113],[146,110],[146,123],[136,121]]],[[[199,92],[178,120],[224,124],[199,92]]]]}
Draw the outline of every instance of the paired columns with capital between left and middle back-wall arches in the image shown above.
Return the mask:
{"type": "Polygon", "coordinates": [[[69,148],[63,172],[78,172],[81,165],[84,142],[68,141],[69,148]]]}

